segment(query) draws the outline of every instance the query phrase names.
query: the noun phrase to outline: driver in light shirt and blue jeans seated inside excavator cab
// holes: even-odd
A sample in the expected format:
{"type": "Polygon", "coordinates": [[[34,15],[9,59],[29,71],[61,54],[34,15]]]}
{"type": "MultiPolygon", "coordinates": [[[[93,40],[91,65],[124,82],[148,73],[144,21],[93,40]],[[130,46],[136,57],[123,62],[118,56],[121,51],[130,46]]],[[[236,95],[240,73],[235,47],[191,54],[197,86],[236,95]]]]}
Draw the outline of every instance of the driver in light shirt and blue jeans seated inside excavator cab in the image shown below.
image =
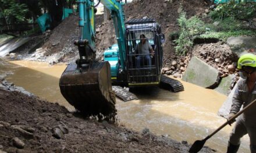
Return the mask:
{"type": "Polygon", "coordinates": [[[136,68],[140,68],[141,59],[147,60],[147,65],[151,66],[151,55],[154,56],[154,50],[144,34],[140,35],[140,42],[136,45],[135,52],[139,54],[136,57],[136,68]]]}

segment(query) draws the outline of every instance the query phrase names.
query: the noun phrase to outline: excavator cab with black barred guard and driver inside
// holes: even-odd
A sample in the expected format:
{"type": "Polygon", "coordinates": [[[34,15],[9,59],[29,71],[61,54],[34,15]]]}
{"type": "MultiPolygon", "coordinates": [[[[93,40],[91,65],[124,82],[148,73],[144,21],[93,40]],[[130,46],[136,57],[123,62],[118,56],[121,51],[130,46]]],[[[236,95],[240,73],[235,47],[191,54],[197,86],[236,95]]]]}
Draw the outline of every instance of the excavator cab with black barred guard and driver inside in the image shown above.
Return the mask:
{"type": "Polygon", "coordinates": [[[163,39],[161,26],[154,19],[132,19],[126,22],[126,63],[129,86],[159,84],[163,39]]]}

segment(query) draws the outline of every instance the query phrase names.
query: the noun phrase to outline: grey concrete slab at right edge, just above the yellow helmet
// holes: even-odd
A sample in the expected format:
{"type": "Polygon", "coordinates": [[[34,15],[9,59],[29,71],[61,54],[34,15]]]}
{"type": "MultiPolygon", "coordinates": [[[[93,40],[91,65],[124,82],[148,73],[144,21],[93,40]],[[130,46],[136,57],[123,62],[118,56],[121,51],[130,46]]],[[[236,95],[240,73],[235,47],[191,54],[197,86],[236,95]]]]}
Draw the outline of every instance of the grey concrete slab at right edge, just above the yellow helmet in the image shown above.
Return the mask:
{"type": "Polygon", "coordinates": [[[227,45],[239,57],[244,53],[256,54],[256,37],[230,37],[227,45]]]}

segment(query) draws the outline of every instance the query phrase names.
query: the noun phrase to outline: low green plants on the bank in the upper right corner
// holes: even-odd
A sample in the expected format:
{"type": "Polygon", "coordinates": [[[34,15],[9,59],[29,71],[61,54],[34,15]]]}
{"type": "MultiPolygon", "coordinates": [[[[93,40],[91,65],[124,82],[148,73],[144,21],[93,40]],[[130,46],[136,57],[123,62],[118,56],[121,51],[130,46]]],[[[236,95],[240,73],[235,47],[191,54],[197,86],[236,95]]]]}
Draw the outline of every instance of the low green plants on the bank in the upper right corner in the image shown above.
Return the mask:
{"type": "Polygon", "coordinates": [[[227,3],[219,4],[216,9],[210,12],[212,19],[223,19],[234,17],[236,19],[253,19],[256,17],[255,2],[239,2],[231,0],[227,3]]]}

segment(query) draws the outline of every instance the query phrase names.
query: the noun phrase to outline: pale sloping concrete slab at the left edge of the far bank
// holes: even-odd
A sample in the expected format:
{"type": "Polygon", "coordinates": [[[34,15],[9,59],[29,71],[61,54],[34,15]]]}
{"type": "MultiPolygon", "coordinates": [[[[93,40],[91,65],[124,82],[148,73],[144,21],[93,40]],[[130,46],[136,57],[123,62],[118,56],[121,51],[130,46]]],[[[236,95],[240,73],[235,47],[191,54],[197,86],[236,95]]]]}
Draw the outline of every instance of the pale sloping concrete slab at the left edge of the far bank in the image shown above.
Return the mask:
{"type": "Polygon", "coordinates": [[[6,54],[13,52],[20,46],[24,45],[28,41],[30,41],[31,38],[15,38],[12,39],[10,42],[6,43],[5,45],[0,47],[0,57],[5,56],[6,54]]]}

